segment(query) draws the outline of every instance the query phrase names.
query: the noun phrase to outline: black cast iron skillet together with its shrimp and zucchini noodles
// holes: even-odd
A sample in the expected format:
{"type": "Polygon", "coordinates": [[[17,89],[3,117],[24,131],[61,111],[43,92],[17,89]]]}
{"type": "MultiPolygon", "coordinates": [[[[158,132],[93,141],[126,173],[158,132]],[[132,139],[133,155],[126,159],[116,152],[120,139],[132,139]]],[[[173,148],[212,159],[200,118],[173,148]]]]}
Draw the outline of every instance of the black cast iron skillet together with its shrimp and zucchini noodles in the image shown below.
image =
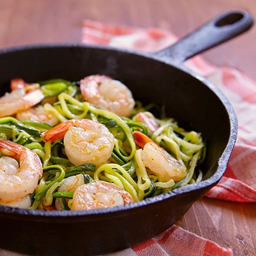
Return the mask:
{"type": "Polygon", "coordinates": [[[97,255],[150,239],[221,179],[232,106],[183,61],[245,32],[226,12],[160,52],[0,51],[0,247],[97,255]]]}

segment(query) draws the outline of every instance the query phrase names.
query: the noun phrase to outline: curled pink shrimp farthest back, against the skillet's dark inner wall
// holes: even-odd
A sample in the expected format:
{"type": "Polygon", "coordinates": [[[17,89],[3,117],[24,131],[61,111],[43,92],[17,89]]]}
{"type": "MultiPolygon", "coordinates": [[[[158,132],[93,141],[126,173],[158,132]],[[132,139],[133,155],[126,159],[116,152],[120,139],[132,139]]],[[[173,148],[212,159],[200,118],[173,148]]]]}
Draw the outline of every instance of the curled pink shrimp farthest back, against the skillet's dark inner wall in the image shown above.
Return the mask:
{"type": "Polygon", "coordinates": [[[87,102],[119,116],[130,116],[135,105],[128,87],[108,76],[87,76],[80,81],[80,89],[87,102]]]}

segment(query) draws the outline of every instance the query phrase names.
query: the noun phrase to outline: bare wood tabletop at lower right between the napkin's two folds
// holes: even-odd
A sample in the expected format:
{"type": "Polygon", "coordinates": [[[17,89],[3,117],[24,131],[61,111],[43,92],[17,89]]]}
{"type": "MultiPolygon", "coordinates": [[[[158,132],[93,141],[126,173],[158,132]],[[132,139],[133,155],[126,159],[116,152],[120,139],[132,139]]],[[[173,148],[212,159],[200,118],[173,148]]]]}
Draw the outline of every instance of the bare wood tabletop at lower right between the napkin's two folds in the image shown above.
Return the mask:
{"type": "Polygon", "coordinates": [[[230,247],[234,255],[256,255],[256,204],[212,198],[195,202],[177,225],[205,239],[230,247]]]}

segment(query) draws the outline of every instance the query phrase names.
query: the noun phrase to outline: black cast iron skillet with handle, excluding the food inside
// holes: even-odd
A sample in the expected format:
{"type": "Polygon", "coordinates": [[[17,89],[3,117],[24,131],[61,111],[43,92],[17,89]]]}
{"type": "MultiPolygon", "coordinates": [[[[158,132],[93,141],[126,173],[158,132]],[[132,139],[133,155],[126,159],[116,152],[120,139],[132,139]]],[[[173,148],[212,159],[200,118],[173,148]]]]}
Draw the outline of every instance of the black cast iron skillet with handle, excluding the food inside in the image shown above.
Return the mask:
{"type": "MultiPolygon", "coordinates": [[[[0,206],[0,247],[37,255],[95,255],[150,239],[178,221],[218,183],[236,141],[237,120],[225,96],[183,67],[186,59],[249,29],[252,17],[234,10],[156,53],[81,44],[25,46],[0,51],[0,91],[10,79],[76,81],[91,74],[121,80],[143,103],[165,105],[168,116],[207,139],[204,180],[135,204],[91,211],[15,209],[0,206]]],[[[198,213],[199,214],[199,213],[198,213]]],[[[181,241],[182,242],[182,241],[181,241]]]]}

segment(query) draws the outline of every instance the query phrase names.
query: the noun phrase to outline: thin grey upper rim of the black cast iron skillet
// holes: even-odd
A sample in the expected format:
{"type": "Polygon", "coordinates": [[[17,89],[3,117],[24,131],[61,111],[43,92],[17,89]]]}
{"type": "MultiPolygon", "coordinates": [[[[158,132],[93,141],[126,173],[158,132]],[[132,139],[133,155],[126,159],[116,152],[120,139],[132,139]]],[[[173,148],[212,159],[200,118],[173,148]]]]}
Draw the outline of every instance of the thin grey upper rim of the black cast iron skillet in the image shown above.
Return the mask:
{"type": "MultiPolygon", "coordinates": [[[[207,86],[212,93],[214,93],[222,105],[224,105],[224,108],[227,111],[229,121],[230,121],[230,136],[228,139],[228,143],[226,147],[224,148],[224,151],[222,152],[219,159],[216,161],[216,163],[212,166],[212,168],[216,169],[216,172],[212,177],[209,177],[207,180],[203,180],[199,183],[193,183],[188,184],[184,187],[180,187],[175,189],[174,191],[167,192],[165,194],[158,195],[154,198],[146,198],[143,201],[134,202],[133,204],[125,204],[123,206],[118,207],[110,207],[110,208],[104,208],[104,209],[95,209],[95,210],[84,210],[84,211],[39,211],[39,210],[33,210],[33,209],[22,209],[22,208],[14,208],[14,207],[7,207],[0,205],[0,214],[4,214],[6,217],[9,218],[15,218],[18,216],[28,216],[28,217],[81,217],[81,216],[99,216],[99,215],[105,215],[113,212],[124,212],[125,210],[131,210],[139,207],[143,207],[148,204],[154,204],[159,203],[160,201],[167,200],[169,198],[172,198],[174,196],[189,193],[192,191],[197,191],[200,189],[207,188],[209,186],[214,186],[218,183],[218,181],[221,179],[221,177],[224,175],[224,172],[227,167],[227,162],[230,158],[231,152],[233,150],[233,147],[236,142],[237,137],[237,130],[238,130],[238,121],[236,118],[236,114],[234,112],[234,109],[226,96],[219,90],[214,84],[212,84],[210,81],[205,79],[204,77],[196,74],[194,71],[189,70],[187,67],[185,67],[183,64],[178,63],[178,61],[175,61],[175,59],[172,58],[160,58],[159,56],[155,55],[153,52],[139,52],[129,49],[119,49],[115,47],[109,47],[109,46],[102,46],[102,45],[90,45],[90,44],[81,44],[81,43],[50,43],[50,44],[32,44],[32,45],[24,45],[24,46],[18,46],[18,47],[9,47],[4,48],[0,50],[0,55],[12,53],[12,52],[20,52],[20,51],[26,51],[31,49],[47,49],[47,48],[90,48],[90,49],[103,49],[103,50],[112,50],[117,52],[123,52],[128,53],[132,55],[138,55],[145,58],[150,58],[155,61],[160,61],[165,64],[171,65],[179,70],[182,70],[183,72],[188,73],[190,76],[194,77],[195,79],[198,79],[201,81],[205,86],[207,86]],[[8,214],[8,216],[6,215],[8,214]]],[[[41,218],[42,220],[44,218],[41,218]]],[[[56,218],[55,218],[56,219],[56,218]]],[[[62,218],[61,218],[62,219],[62,218]]]]}

